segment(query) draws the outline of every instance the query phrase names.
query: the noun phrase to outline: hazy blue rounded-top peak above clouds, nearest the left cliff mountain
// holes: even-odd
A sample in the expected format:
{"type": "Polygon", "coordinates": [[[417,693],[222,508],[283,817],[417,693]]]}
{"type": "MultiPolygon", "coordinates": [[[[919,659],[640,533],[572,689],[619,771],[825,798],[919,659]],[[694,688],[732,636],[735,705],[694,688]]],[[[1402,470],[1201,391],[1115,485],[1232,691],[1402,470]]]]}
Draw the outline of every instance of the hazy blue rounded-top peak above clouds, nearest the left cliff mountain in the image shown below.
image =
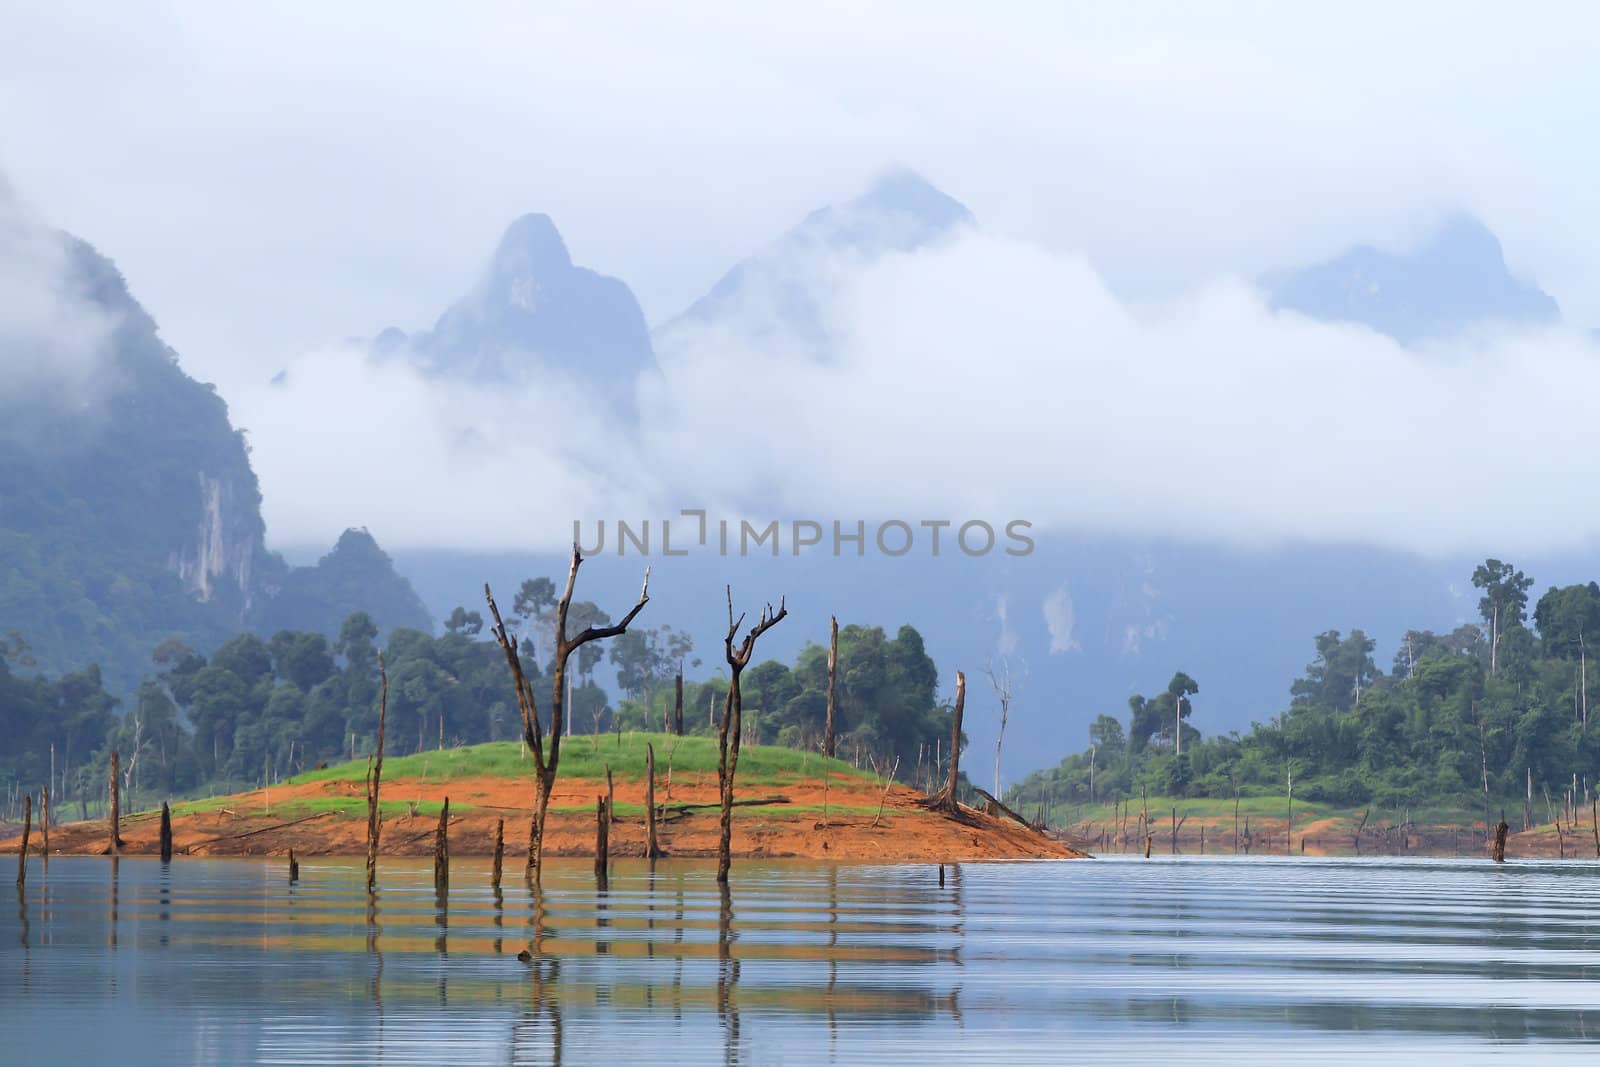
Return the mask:
{"type": "Polygon", "coordinates": [[[570,374],[622,410],[632,410],[637,374],[656,362],[632,290],[574,266],[547,214],[512,222],[478,283],[432,330],[408,336],[390,326],[371,352],[477,382],[570,374]]]}

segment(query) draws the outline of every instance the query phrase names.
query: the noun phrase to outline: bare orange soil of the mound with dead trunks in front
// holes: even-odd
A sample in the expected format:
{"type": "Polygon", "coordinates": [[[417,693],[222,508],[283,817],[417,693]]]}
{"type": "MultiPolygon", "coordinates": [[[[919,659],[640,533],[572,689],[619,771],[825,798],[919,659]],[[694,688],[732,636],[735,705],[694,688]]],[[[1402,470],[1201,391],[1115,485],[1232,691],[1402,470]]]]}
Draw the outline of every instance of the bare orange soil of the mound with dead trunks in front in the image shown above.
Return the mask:
{"type": "MultiPolygon", "coordinates": [[[[323,813],[306,817],[304,808],[283,805],[294,800],[344,798],[365,801],[355,782],[304,782],[275,785],[270,790],[238,793],[221,809],[173,817],[173,849],[187,856],[363,856],[366,853],[365,806],[355,813],[323,813]],[[270,814],[269,805],[278,814],[270,814]]],[[[616,803],[643,808],[643,782],[616,781],[616,803]]],[[[552,856],[592,856],[595,843],[595,798],[605,793],[605,781],[558,779],[550,800],[546,825],[546,853],[552,856]],[[566,808],[563,811],[562,808],[566,808]],[[574,809],[576,808],[576,809],[574,809]]],[[[494,848],[494,825],[506,821],[507,869],[512,857],[528,845],[528,822],[533,813],[533,785],[506,777],[461,777],[450,782],[395,779],[382,784],[384,803],[451,801],[450,849],[456,856],[488,856],[494,848]],[[458,808],[458,805],[470,805],[458,808]]],[[[773,798],[760,808],[734,808],[733,853],[742,857],[805,857],[875,862],[955,862],[976,859],[1064,859],[1083,853],[1029,830],[1003,817],[970,808],[962,819],[923,811],[917,806],[922,793],[894,785],[883,803],[883,817],[874,825],[874,814],[837,813],[838,808],[872,808],[877,811],[882,790],[870,782],[834,776],[827,805],[835,809],[822,819],[821,784],[810,777],[782,785],[750,785],[739,800],[773,798]],[[781,798],[781,800],[779,800],[781,798]],[[816,811],[786,811],[816,808],[816,811]]],[[[670,798],[664,787],[656,790],[656,803],[667,805],[669,816],[658,822],[658,841],[669,856],[715,856],[718,811],[715,774],[682,776],[672,782],[670,798]],[[678,811],[680,805],[709,805],[678,811]]],[[[437,816],[384,816],[381,854],[430,856],[437,816]]],[[[157,854],[160,851],[158,813],[139,813],[122,821],[123,854],[157,854]]],[[[21,841],[0,843],[0,853],[16,853],[21,841]]],[[[35,827],[29,851],[42,848],[35,827]]],[[[106,849],[106,821],[70,822],[53,827],[53,854],[99,854],[106,849]]],[[[645,854],[643,814],[619,816],[611,827],[613,856],[645,854]]]]}

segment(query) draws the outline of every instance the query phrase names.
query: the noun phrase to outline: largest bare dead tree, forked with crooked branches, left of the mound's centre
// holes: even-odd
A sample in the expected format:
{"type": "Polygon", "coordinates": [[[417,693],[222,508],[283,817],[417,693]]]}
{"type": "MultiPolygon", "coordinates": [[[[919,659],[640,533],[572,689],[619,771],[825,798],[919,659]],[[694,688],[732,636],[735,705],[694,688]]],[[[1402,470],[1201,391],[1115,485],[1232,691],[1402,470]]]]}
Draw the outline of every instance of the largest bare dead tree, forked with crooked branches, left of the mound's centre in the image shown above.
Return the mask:
{"type": "Polygon", "coordinates": [[[506,624],[501,621],[499,606],[494,603],[494,593],[490,592],[488,584],[483,585],[483,598],[488,601],[490,614],[494,617],[494,640],[499,641],[501,651],[506,653],[506,664],[510,667],[512,685],[517,689],[517,705],[522,710],[522,737],[533,752],[534,808],[533,821],[528,825],[528,872],[534,878],[539,875],[539,862],[544,857],[544,821],[550,809],[550,795],[555,792],[555,774],[562,763],[562,728],[566,725],[566,661],[589,641],[627,633],[627,627],[645,609],[645,605],[650,603],[650,568],[646,566],[645,584],[638,590],[638,603],[622,616],[621,622],[613,625],[589,625],[579,633],[568,637],[566,614],[573,606],[573,587],[578,582],[578,568],[582,561],[584,557],[578,550],[578,542],[573,542],[573,563],[566,571],[566,589],[555,605],[555,659],[550,672],[549,750],[546,750],[544,728],[539,723],[539,705],[534,702],[533,686],[528,683],[528,677],[522,669],[522,657],[517,654],[517,635],[507,633],[506,624]]]}

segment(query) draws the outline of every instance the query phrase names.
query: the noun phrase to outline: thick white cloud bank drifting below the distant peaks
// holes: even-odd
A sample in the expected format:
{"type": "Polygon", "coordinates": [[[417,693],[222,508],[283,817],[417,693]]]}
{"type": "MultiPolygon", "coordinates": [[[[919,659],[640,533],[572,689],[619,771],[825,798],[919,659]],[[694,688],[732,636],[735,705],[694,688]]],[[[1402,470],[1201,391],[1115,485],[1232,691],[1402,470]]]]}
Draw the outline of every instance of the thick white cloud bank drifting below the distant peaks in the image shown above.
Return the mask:
{"type": "Polygon", "coordinates": [[[632,437],[565,386],[307,357],[232,397],[272,536],[555,549],[573,518],[678,507],[1426,553],[1600,533],[1600,352],[1578,331],[1406,350],[1232,280],[1130,304],[1083,258],[981,232],[837,282],[834,358],[738,323],[678,338],[632,437]]]}

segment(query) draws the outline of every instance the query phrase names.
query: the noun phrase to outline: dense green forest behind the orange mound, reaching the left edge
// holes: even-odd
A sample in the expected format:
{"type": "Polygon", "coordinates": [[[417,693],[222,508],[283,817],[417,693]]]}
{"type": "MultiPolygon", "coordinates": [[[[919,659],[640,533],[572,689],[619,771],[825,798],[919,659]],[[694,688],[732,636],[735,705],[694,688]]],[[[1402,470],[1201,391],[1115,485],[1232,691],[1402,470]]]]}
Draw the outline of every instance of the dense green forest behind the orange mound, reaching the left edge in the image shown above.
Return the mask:
{"type": "MultiPolygon", "coordinates": [[[[530,579],[507,617],[530,678],[549,673],[555,601],[550,579],[530,579]]],[[[571,606],[571,629],[608,622],[590,601],[571,606]]],[[[26,638],[13,633],[0,641],[0,731],[8,739],[0,790],[8,800],[48,782],[58,803],[86,816],[106,793],[114,750],[134,803],[251,789],[354,758],[374,744],[379,656],[392,755],[522,736],[504,653],[483,614],[466,608],[456,608],[437,637],[397,627],[382,645],[362,611],[346,617],[333,640],[301,630],[240,633],[210,656],[168,640],[126,701],[112,696],[96,665],[46,677],[26,638]]],[[[670,625],[632,627],[610,645],[584,645],[568,673],[568,729],[595,737],[674,729],[678,680],[698,667],[691,638],[670,625]]],[[[838,755],[885,768],[898,757],[901,777],[909,777],[922,753],[931,769],[950,737],[938,681],[915,629],[902,625],[890,637],[880,627],[840,627],[838,755]]],[[[714,734],[725,696],[726,678],[717,673],[683,681],[682,731],[714,734]]],[[[750,742],[816,749],[826,712],[826,646],[806,645],[794,664],[765,661],[744,673],[750,742]]]]}

